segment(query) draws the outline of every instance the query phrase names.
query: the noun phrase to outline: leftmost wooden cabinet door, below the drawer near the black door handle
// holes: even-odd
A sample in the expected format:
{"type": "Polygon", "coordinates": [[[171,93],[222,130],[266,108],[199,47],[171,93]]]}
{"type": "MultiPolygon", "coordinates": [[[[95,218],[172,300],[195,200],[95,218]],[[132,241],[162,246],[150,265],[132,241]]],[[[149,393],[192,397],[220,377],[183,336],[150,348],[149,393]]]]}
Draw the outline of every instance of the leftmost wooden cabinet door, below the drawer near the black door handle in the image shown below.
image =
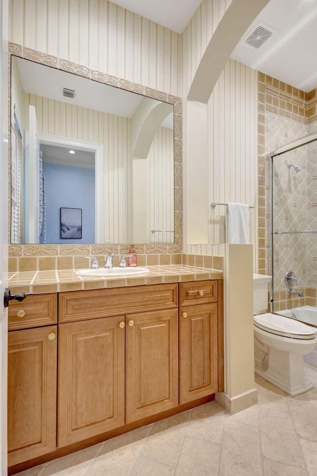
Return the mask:
{"type": "Polygon", "coordinates": [[[57,326],[8,334],[8,466],[56,449],[57,326]]]}

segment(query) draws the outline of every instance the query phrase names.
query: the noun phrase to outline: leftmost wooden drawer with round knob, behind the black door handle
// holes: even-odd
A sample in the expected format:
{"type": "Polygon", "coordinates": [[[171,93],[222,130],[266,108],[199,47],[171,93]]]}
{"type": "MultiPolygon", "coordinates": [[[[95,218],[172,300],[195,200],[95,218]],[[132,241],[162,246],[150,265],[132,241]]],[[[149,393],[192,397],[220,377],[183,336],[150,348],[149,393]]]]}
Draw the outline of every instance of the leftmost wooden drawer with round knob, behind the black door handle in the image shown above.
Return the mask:
{"type": "Polygon", "coordinates": [[[24,301],[11,301],[8,307],[8,330],[28,329],[57,323],[57,295],[28,295],[24,301]]]}

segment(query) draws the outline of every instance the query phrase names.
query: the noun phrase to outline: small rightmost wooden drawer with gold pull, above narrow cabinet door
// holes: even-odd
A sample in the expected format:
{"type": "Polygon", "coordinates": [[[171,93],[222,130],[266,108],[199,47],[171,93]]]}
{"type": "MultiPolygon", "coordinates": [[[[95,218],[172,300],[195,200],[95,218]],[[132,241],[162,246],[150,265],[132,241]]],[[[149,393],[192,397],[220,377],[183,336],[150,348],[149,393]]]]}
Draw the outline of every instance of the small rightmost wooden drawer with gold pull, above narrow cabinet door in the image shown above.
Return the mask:
{"type": "Polygon", "coordinates": [[[179,305],[207,304],[218,298],[217,280],[191,281],[179,285],[179,305]]]}

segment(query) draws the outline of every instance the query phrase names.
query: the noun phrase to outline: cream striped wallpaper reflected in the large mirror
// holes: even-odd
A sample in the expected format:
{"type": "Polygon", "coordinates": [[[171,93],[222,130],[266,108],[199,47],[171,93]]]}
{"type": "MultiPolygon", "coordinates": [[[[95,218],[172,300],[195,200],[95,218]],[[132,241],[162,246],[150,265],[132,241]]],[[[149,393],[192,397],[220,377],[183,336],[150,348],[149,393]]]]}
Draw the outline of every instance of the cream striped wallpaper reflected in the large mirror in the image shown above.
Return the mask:
{"type": "MultiPolygon", "coordinates": [[[[173,230],[174,182],[171,177],[166,178],[166,175],[172,176],[173,173],[173,130],[160,127],[148,160],[142,161],[146,167],[144,175],[140,175],[139,171],[134,183],[136,195],[141,188],[147,190],[144,203],[140,203],[144,206],[144,213],[140,213],[130,185],[134,163],[131,141],[133,118],[113,116],[32,94],[25,93],[24,97],[25,114],[29,105],[35,107],[40,132],[103,144],[105,242],[150,243],[154,238],[151,228],[165,230],[168,227],[173,230]],[[146,223],[141,235],[138,222],[133,227],[131,213],[140,215],[142,222],[146,223]]],[[[24,123],[27,124],[26,117],[24,123]]],[[[170,242],[161,234],[155,238],[157,242],[170,242]]]]}

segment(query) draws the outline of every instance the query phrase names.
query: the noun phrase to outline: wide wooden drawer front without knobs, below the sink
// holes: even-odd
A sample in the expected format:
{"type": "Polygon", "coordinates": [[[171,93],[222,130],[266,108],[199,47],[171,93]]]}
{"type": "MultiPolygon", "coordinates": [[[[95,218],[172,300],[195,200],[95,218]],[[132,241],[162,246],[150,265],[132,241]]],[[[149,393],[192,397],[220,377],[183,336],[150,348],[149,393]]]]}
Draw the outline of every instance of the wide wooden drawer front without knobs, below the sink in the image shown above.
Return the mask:
{"type": "Polygon", "coordinates": [[[178,306],[178,284],[59,293],[58,321],[72,322],[178,306]]]}

